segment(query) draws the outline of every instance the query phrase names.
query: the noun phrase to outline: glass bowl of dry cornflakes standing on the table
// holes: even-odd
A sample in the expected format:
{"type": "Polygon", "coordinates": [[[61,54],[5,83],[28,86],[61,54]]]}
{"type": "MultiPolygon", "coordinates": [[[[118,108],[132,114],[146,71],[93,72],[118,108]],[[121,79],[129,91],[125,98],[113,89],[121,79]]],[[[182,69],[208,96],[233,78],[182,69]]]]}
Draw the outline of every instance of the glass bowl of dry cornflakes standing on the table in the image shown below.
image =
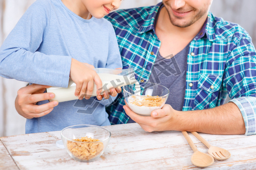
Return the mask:
{"type": "Polygon", "coordinates": [[[77,161],[90,162],[99,158],[107,148],[111,133],[95,125],[74,125],[60,132],[68,154],[77,161]]]}

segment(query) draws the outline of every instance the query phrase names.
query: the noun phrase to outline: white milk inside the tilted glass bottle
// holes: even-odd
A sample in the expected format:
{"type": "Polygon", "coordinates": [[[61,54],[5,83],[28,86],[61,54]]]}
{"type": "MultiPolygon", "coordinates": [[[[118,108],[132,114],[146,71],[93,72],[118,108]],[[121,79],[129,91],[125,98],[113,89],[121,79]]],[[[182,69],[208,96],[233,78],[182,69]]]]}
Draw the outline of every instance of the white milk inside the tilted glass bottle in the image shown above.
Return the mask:
{"type": "MultiPolygon", "coordinates": [[[[109,73],[98,73],[101,81],[102,81],[102,93],[104,91],[109,91],[110,88],[117,88],[122,87],[128,84],[138,83],[138,81],[133,76],[122,76],[117,74],[109,74],[109,73]]],[[[139,83],[138,83],[139,84],[139,83]]],[[[61,87],[50,87],[47,88],[47,92],[52,92],[55,94],[55,98],[49,100],[51,101],[58,101],[58,102],[65,102],[78,99],[78,96],[75,96],[75,88],[76,84],[69,79],[68,88],[61,88],[61,87]]],[[[140,86],[136,87],[136,90],[140,94],[140,86]]],[[[97,96],[97,87],[94,83],[93,86],[93,96],[97,96]]]]}

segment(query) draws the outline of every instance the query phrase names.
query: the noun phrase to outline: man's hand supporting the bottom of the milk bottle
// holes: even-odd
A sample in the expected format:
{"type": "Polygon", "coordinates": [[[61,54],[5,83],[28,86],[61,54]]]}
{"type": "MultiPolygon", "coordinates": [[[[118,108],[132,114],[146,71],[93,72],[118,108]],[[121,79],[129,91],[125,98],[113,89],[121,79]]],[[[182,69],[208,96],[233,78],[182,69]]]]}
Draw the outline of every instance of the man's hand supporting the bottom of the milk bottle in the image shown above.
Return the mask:
{"type": "Polygon", "coordinates": [[[58,105],[58,102],[52,101],[46,104],[36,105],[39,101],[49,100],[55,97],[54,93],[44,93],[45,88],[49,87],[50,86],[31,84],[20,88],[15,100],[17,112],[27,119],[42,117],[50,113],[53,108],[58,105]]]}

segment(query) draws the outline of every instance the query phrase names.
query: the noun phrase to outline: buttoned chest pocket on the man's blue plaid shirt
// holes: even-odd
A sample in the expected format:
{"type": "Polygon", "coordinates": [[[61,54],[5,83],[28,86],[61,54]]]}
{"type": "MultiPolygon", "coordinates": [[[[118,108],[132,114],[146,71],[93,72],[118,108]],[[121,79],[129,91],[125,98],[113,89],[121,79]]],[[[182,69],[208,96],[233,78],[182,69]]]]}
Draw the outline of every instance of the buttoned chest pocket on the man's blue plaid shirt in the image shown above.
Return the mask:
{"type": "Polygon", "coordinates": [[[222,85],[222,75],[200,74],[193,110],[214,108],[222,85]]]}

